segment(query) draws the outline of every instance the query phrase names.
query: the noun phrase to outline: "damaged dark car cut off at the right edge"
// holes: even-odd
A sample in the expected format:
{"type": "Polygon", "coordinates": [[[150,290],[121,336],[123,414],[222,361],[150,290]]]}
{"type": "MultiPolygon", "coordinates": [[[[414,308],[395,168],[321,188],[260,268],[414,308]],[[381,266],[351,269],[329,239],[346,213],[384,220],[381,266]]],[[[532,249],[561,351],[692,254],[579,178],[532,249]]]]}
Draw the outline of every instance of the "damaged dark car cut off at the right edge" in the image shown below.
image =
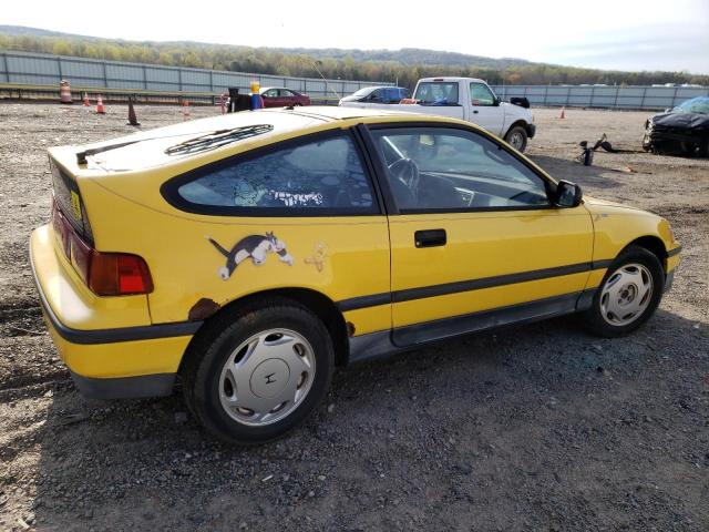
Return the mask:
{"type": "Polygon", "coordinates": [[[709,156],[709,96],[687,100],[645,123],[643,149],[665,155],[709,156]]]}

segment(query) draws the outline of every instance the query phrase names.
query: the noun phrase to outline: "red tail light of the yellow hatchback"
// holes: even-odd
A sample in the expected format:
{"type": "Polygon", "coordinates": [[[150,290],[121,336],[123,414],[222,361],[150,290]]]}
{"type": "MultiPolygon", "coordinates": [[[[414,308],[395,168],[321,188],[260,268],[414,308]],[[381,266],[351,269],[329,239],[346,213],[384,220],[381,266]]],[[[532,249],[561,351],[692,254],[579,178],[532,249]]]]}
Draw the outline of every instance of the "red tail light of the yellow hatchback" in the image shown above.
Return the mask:
{"type": "Polygon", "coordinates": [[[52,225],[66,258],[94,294],[127,296],[153,291],[153,278],[142,257],[95,250],[74,232],[55,203],[52,225]]]}

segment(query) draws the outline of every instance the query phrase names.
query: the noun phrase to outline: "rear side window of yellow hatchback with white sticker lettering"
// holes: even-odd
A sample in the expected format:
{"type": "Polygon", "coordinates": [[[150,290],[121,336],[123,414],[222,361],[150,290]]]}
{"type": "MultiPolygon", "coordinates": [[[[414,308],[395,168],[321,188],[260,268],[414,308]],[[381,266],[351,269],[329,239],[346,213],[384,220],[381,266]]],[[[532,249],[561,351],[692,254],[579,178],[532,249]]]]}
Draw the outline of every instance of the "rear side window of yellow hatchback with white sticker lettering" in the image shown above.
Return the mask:
{"type": "MultiPolygon", "coordinates": [[[[360,155],[347,134],[217,163],[177,186],[182,201],[208,213],[278,215],[281,211],[373,214],[377,206],[360,155]]],[[[178,178],[179,180],[179,178],[178,178]]]]}

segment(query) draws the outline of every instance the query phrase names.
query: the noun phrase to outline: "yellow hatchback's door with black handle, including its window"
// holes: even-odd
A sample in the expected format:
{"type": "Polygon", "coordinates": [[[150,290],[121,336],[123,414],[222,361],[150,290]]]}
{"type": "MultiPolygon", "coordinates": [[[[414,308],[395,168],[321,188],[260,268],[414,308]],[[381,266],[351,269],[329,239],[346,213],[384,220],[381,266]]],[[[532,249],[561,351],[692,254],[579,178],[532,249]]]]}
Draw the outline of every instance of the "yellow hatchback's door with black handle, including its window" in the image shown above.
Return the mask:
{"type": "Polygon", "coordinates": [[[593,267],[583,205],[555,207],[553,181],[470,129],[370,132],[389,198],[395,345],[575,308],[593,267]]]}

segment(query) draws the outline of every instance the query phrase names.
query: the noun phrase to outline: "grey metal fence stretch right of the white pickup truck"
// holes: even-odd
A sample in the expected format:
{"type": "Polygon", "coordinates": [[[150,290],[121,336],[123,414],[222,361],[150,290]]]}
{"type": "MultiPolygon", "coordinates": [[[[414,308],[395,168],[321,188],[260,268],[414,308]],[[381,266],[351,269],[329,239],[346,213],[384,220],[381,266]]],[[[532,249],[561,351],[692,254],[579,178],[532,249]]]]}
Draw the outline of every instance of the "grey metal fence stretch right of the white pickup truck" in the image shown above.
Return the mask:
{"type": "Polygon", "coordinates": [[[532,105],[661,110],[709,95],[706,86],[496,85],[503,100],[525,96],[532,105]]]}

